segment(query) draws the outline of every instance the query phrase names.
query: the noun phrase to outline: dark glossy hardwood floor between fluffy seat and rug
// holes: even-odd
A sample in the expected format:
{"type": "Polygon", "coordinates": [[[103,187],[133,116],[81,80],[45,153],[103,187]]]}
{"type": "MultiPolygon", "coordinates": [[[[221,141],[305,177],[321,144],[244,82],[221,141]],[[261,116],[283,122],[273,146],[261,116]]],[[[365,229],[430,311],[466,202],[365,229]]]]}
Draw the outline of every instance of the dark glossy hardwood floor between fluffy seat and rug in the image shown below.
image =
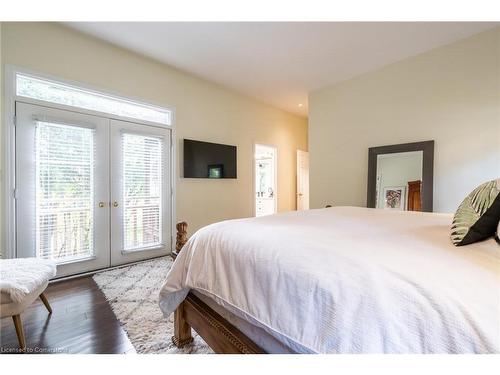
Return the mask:
{"type": "MultiPolygon", "coordinates": [[[[51,284],[45,295],[52,315],[40,299],[21,314],[28,353],[135,353],[91,276],[51,284]]],[[[17,351],[12,318],[1,321],[0,353],[17,351]]]]}

